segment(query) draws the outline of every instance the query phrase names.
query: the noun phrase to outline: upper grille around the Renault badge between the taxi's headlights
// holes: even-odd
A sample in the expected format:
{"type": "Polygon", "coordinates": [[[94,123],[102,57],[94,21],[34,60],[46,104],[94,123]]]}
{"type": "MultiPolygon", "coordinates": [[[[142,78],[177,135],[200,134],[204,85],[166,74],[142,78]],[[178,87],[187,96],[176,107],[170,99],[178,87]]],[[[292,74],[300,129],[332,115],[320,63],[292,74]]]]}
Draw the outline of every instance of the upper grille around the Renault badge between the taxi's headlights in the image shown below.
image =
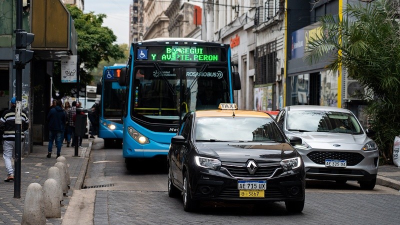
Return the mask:
{"type": "Polygon", "coordinates": [[[280,165],[261,165],[257,167],[254,174],[250,174],[245,166],[223,164],[221,167],[234,177],[270,177],[275,170],[281,168],[280,165]]]}

